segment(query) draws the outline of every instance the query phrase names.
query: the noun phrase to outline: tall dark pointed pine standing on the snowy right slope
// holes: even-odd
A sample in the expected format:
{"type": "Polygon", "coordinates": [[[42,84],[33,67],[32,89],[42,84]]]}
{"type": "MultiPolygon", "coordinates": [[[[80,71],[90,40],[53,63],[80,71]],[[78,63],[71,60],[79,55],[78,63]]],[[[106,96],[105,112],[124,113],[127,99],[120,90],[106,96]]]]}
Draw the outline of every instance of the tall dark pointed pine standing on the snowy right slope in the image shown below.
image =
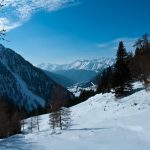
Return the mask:
{"type": "Polygon", "coordinates": [[[124,44],[123,42],[120,42],[117,50],[115,72],[113,77],[113,87],[116,97],[125,96],[132,90],[132,77],[127,65],[127,58],[128,54],[124,44]]]}

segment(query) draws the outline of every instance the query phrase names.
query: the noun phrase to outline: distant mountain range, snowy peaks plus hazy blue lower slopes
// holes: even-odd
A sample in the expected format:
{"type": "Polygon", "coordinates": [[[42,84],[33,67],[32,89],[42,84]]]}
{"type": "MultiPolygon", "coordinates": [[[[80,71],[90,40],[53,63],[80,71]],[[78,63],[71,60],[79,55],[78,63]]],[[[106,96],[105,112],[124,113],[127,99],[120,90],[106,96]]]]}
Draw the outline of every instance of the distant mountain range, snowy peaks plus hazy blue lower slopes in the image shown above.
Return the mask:
{"type": "Polygon", "coordinates": [[[77,60],[71,64],[64,65],[42,63],[37,67],[43,69],[44,72],[57,83],[69,87],[73,84],[93,80],[96,78],[97,74],[113,64],[113,59],[100,58],[93,60],[77,60]]]}

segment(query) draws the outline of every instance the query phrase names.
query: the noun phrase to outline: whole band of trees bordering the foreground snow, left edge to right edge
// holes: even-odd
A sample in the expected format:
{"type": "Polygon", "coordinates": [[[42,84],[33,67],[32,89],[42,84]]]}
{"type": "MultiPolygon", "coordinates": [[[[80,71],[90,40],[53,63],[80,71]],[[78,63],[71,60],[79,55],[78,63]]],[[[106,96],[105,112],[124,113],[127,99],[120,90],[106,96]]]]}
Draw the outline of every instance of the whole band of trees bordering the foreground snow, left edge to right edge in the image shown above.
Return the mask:
{"type": "Polygon", "coordinates": [[[79,97],[66,101],[60,96],[61,87],[56,87],[53,101],[46,108],[38,108],[27,112],[24,108],[17,108],[11,100],[0,97],[0,138],[21,133],[25,128],[25,120],[30,117],[29,131],[36,127],[40,131],[38,115],[49,113],[51,129],[66,129],[71,126],[71,111],[68,107],[81,103],[97,93],[113,92],[116,98],[133,93],[133,83],[143,82],[146,90],[150,89],[150,40],[148,34],[143,35],[134,44],[135,53],[127,52],[123,41],[119,42],[116,62],[104,69],[97,77],[97,89],[83,90],[79,97]],[[36,117],[33,117],[36,116],[36,117]]]}

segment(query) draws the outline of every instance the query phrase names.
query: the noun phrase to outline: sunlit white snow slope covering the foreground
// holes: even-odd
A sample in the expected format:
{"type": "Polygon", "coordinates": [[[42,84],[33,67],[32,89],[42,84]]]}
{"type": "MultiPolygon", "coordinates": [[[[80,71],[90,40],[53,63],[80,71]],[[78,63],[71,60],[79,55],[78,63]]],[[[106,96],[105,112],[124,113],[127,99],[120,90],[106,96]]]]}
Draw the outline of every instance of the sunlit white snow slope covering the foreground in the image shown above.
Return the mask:
{"type": "Polygon", "coordinates": [[[149,150],[150,93],[135,84],[135,93],[115,101],[113,94],[96,95],[72,109],[70,129],[52,134],[48,115],[40,132],[0,141],[0,150],[149,150]]]}

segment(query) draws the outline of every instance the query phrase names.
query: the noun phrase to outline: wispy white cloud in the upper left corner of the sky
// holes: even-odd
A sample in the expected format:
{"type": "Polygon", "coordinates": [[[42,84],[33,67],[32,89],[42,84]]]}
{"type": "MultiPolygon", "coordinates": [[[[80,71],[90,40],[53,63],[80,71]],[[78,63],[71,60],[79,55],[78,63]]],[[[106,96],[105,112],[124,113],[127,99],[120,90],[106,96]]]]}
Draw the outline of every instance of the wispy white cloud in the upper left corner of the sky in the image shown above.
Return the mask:
{"type": "Polygon", "coordinates": [[[79,3],[79,0],[5,0],[0,12],[0,28],[14,29],[39,10],[56,11],[79,3]]]}

